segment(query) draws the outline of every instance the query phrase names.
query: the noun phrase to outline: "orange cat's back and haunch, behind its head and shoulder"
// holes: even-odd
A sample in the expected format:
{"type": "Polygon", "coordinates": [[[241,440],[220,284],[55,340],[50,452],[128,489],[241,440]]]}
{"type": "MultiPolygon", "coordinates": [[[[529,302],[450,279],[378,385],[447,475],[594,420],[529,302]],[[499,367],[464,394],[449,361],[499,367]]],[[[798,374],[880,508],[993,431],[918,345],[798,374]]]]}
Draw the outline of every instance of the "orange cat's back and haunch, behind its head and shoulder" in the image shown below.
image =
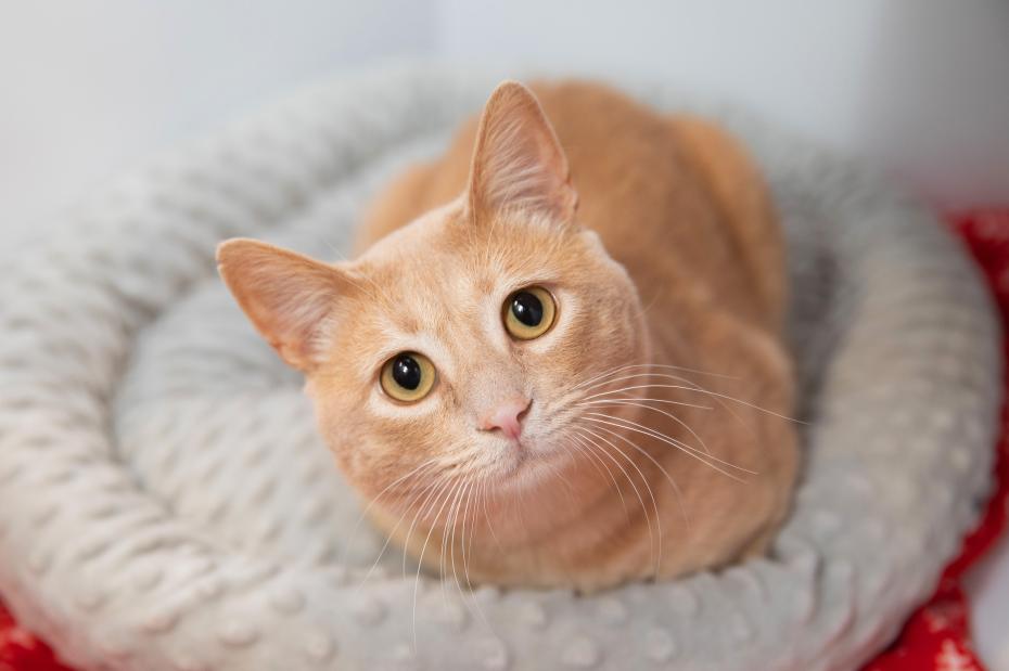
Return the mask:
{"type": "MultiPolygon", "coordinates": [[[[567,156],[578,221],[627,268],[643,302],[689,278],[758,321],[780,322],[780,232],[758,172],[728,133],[596,82],[531,88],[567,156]]],[[[380,196],[359,249],[463,191],[476,127],[469,119],[445,155],[380,196]]]]}

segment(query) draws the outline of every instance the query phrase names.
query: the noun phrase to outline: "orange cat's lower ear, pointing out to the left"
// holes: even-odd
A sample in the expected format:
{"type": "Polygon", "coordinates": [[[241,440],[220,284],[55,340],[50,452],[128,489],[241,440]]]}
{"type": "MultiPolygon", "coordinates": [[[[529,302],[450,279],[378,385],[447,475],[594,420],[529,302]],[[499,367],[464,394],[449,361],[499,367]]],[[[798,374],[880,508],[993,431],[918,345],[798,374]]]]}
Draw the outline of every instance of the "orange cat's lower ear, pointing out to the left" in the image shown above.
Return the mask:
{"type": "Polygon", "coordinates": [[[218,245],[217,270],[281,359],[303,372],[319,363],[330,318],[354,286],[347,271],[241,237],[218,245]]]}

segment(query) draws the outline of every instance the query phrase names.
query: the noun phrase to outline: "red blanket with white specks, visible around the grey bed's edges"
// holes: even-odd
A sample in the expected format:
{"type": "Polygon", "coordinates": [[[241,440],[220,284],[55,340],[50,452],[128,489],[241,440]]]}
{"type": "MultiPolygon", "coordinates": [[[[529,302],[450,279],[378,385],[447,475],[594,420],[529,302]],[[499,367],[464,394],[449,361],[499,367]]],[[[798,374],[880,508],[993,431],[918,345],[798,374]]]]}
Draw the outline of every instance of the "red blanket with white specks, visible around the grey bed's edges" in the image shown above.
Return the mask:
{"type": "MultiPolygon", "coordinates": [[[[1009,211],[970,212],[956,217],[963,237],[988,279],[1009,332],[1009,211]]],[[[1005,345],[1009,360],[1009,340],[1005,345]]],[[[1009,377],[1006,384],[1009,391],[1009,377]]],[[[1005,530],[1009,505],[1009,412],[1004,408],[997,452],[997,488],[978,528],[963,541],[960,555],[946,567],[932,598],[908,620],[897,641],[864,671],[983,671],[971,647],[965,571],[1005,530]]],[[[72,671],[42,641],[25,631],[0,604],[0,671],[72,671]]]]}

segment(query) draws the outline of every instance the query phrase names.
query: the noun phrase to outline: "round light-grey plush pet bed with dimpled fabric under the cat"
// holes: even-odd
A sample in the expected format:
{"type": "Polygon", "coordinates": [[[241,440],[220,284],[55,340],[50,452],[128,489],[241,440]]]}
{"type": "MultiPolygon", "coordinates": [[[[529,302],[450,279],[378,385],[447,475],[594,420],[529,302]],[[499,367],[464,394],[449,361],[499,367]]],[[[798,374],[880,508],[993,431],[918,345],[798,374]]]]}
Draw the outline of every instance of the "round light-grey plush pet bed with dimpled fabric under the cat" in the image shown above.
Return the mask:
{"type": "Polygon", "coordinates": [[[767,558],[592,596],[403,568],[297,375],[215,275],[250,235],[339,257],[496,78],[307,90],[111,185],[0,285],[0,593],[81,669],[851,669],[935,588],[989,488],[999,334],[935,218],[878,176],[701,108],[789,237],[805,472],[767,558]]]}

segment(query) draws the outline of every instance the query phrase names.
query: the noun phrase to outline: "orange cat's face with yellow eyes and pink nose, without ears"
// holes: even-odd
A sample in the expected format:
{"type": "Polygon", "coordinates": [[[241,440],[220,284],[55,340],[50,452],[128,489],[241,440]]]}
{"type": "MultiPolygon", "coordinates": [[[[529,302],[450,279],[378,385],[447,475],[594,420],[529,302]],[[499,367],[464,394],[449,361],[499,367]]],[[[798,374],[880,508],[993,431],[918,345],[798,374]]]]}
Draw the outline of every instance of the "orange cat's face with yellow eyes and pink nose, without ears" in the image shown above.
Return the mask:
{"type": "Polygon", "coordinates": [[[583,229],[443,211],[355,266],[309,392],[371,495],[425,463],[498,481],[558,467],[593,410],[584,387],[643,356],[634,286],[583,229]]]}

